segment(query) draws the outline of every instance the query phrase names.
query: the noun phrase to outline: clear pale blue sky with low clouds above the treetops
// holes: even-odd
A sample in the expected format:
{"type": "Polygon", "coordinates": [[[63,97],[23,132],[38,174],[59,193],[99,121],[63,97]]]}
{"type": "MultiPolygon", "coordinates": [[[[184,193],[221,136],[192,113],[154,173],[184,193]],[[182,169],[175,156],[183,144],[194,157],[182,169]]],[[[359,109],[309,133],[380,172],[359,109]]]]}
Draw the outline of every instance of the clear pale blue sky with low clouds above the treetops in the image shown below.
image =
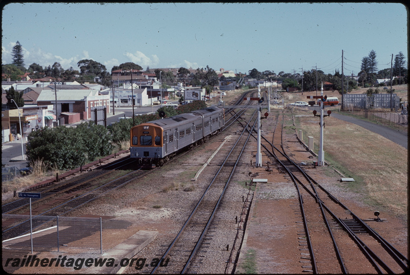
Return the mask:
{"type": "Polygon", "coordinates": [[[407,56],[407,11],[395,3],[11,3],[2,11],[2,64],[16,41],[25,66],[81,59],[107,67],[209,65],[248,73],[253,68],[356,75],[371,50],[378,70],[392,54],[407,56]]]}

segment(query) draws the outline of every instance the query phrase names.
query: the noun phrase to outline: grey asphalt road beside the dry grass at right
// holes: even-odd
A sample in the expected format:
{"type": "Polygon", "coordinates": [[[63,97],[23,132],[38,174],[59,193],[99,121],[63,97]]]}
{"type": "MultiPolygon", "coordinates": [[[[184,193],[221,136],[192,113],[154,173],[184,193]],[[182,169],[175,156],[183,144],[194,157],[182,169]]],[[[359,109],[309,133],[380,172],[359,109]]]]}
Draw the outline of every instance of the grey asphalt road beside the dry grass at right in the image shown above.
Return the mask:
{"type": "Polygon", "coordinates": [[[337,119],[340,119],[346,122],[354,123],[367,130],[378,133],[384,136],[386,139],[391,140],[392,142],[395,142],[398,145],[407,149],[407,137],[408,137],[407,132],[394,130],[389,127],[383,126],[383,125],[374,124],[374,123],[364,121],[361,119],[352,118],[350,116],[344,116],[343,114],[340,114],[340,113],[332,113],[332,117],[335,117],[337,119]]]}

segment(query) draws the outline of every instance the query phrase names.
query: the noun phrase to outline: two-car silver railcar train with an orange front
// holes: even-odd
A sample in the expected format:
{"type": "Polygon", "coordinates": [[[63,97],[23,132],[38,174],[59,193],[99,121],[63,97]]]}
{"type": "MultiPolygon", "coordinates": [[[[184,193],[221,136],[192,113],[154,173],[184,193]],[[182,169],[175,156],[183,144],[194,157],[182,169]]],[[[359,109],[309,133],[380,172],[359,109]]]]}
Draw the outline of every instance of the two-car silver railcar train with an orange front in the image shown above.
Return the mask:
{"type": "Polygon", "coordinates": [[[206,142],[224,125],[224,112],[208,107],[131,128],[130,156],[139,164],[162,165],[178,151],[206,142]]]}

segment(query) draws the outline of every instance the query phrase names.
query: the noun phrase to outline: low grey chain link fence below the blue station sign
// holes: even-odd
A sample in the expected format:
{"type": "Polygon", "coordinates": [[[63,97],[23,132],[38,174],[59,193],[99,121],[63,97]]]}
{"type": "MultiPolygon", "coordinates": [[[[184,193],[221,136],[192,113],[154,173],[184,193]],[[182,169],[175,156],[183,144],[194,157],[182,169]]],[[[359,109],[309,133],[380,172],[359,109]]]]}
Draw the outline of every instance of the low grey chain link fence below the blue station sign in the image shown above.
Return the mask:
{"type": "MultiPolygon", "coordinates": [[[[58,216],[33,216],[33,232],[30,234],[30,215],[2,214],[2,226],[15,226],[22,228],[24,233],[16,236],[8,234],[3,240],[3,248],[30,249],[31,235],[33,250],[57,251],[61,248],[98,250],[103,253],[101,218],[85,217],[58,217],[58,216]],[[28,228],[28,231],[27,231],[28,228]]],[[[18,231],[22,231],[21,229],[18,231]]]]}

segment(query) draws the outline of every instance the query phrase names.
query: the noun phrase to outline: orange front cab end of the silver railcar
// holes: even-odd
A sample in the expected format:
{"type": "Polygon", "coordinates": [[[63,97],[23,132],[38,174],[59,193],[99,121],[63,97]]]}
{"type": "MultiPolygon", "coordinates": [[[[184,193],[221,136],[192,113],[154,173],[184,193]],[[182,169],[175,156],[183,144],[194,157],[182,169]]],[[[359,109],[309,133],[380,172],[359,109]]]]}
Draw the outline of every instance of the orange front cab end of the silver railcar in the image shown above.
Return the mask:
{"type": "Polygon", "coordinates": [[[163,129],[153,123],[142,123],[131,128],[130,156],[139,164],[152,164],[163,157],[163,129]]]}

